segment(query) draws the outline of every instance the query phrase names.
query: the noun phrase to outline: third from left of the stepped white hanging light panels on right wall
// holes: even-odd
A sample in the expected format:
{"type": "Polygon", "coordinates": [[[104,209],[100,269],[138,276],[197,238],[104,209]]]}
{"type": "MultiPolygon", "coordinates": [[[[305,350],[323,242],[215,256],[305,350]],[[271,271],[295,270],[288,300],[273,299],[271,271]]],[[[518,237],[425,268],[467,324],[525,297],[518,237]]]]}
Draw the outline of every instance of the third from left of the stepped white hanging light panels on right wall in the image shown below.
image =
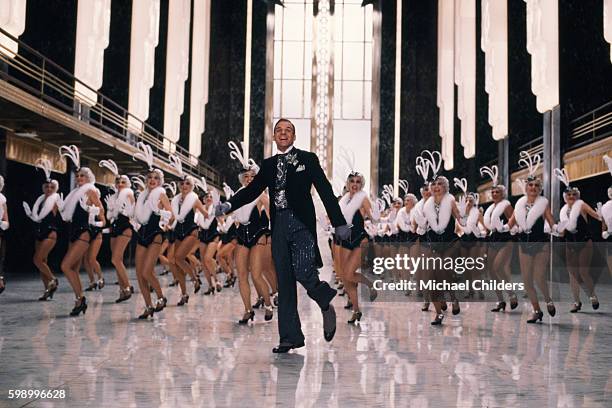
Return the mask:
{"type": "Polygon", "coordinates": [[[482,0],[481,48],[485,53],[485,91],[493,139],[508,136],[508,3],[482,0]]]}

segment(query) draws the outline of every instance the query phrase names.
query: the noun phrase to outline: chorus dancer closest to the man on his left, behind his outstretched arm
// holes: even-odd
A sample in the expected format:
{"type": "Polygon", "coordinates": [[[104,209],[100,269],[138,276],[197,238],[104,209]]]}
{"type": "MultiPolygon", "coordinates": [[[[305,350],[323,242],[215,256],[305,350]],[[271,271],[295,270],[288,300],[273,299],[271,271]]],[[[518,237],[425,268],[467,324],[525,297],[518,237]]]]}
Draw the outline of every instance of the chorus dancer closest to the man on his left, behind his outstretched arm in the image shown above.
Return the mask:
{"type": "MultiPolygon", "coordinates": [[[[238,180],[242,187],[236,191],[236,194],[238,194],[253,181],[253,178],[259,172],[259,166],[255,164],[253,159],[244,157],[234,142],[229,142],[228,145],[231,149],[230,157],[238,160],[242,165],[242,169],[238,174],[238,180]]],[[[244,146],[242,147],[244,148],[244,146]]],[[[265,205],[267,205],[266,196],[262,191],[255,200],[234,211],[234,217],[239,224],[236,230],[238,241],[238,247],[236,248],[236,269],[238,270],[240,296],[242,297],[245,309],[242,319],[238,320],[239,324],[247,324],[249,320],[252,321],[255,318],[255,310],[253,310],[253,305],[251,304],[249,274],[253,279],[253,285],[257,292],[264,298],[264,319],[269,321],[273,316],[268,284],[263,278],[264,265],[262,258],[266,242],[264,234],[267,226],[261,223],[260,208],[265,205]]]]}

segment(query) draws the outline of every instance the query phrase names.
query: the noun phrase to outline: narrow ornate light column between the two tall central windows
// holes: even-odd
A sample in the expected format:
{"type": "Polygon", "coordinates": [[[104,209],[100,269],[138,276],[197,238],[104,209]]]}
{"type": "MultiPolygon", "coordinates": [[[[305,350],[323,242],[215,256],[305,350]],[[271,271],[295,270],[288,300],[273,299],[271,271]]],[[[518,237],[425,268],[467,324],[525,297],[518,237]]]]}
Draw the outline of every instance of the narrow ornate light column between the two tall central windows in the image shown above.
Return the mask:
{"type": "Polygon", "coordinates": [[[315,55],[313,62],[314,110],[311,150],[328,177],[332,175],[332,135],[330,103],[333,94],[332,8],[330,0],[315,0],[315,55]]]}

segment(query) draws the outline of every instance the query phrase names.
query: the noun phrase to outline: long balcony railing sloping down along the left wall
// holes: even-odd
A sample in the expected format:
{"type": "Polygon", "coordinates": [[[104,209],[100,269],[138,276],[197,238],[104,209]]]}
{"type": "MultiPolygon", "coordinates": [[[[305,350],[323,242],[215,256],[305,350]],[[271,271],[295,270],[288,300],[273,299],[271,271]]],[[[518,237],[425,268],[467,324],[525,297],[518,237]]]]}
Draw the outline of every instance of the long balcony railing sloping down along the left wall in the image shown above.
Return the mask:
{"type": "Polygon", "coordinates": [[[77,117],[132,146],[136,146],[138,142],[149,144],[155,156],[161,160],[167,161],[168,154],[174,153],[181,158],[186,173],[196,177],[206,177],[211,184],[221,185],[220,174],[199,157],[166,138],[157,129],[136,118],[127,109],[92,89],[72,73],[2,28],[0,33],[17,42],[19,46],[19,51],[14,54],[0,44],[0,62],[5,67],[0,69],[0,79],[39,98],[41,102],[77,117]],[[83,104],[83,101],[89,100],[89,97],[78,93],[75,95],[76,83],[79,87],[82,86],[97,95],[95,105],[89,107],[83,104]],[[134,132],[128,128],[128,118],[131,129],[136,125],[142,131],[134,132]]]}

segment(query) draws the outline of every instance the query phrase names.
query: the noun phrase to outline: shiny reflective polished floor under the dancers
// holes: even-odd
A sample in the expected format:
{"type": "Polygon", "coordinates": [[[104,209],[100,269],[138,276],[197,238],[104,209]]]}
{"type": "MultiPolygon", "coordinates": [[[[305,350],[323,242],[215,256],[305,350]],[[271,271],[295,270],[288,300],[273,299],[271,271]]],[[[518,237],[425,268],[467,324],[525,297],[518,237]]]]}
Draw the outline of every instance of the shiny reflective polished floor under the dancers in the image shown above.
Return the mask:
{"type": "Polygon", "coordinates": [[[375,303],[349,326],[337,297],[338,331],[326,343],[320,312],[300,289],[306,347],[274,355],[276,317],[264,322],[259,312],[254,324],[238,326],[237,286],[191,295],[183,308],[174,306],[178,290],[165,290],[170,306],[153,321],[136,319],[138,293],[115,304],[114,285],[89,295],[87,314],[71,318],[64,278],[49,302],[36,301],[39,281],[9,281],[0,295],[0,407],[612,405],[605,301],[577,315],[558,304],[557,317],[536,325],[525,323],[526,303],[500,314],[488,312],[491,304],[464,303],[442,327],[430,326],[432,313],[416,303],[375,303]],[[65,390],[66,397],[8,398],[9,390],[29,389],[65,390]]]}

